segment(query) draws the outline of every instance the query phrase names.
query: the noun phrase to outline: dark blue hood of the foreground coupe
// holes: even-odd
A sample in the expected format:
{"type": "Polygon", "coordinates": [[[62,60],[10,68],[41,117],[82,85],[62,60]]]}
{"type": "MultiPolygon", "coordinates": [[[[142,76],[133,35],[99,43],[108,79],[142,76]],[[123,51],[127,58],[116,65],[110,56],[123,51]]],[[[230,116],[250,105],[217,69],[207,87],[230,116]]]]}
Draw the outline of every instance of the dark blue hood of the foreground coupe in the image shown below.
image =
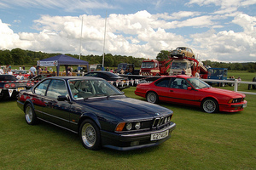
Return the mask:
{"type": "Polygon", "coordinates": [[[166,116],[172,113],[160,105],[154,105],[142,100],[131,98],[87,99],[82,105],[90,106],[98,111],[107,112],[123,120],[148,119],[166,116]]]}

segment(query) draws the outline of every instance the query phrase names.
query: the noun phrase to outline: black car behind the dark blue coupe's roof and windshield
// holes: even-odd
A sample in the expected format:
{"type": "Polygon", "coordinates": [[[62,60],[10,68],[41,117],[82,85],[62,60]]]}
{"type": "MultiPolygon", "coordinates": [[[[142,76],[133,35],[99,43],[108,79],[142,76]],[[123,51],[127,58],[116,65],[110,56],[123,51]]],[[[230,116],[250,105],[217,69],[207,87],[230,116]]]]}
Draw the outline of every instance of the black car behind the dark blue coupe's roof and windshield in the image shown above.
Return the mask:
{"type": "Polygon", "coordinates": [[[113,86],[119,88],[119,90],[130,88],[129,81],[127,78],[119,77],[119,75],[114,74],[109,71],[91,71],[84,75],[84,77],[100,77],[108,82],[112,83],[113,86]]]}

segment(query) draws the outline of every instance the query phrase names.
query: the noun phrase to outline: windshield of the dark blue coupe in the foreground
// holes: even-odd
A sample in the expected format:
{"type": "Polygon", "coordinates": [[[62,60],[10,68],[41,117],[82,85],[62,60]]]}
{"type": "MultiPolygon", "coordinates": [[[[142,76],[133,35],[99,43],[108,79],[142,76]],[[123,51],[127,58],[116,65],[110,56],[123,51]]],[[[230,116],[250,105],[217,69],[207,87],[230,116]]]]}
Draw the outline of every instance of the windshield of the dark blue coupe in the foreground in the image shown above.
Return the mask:
{"type": "Polygon", "coordinates": [[[124,95],[105,80],[69,80],[73,99],[88,99],[101,96],[124,95]]]}

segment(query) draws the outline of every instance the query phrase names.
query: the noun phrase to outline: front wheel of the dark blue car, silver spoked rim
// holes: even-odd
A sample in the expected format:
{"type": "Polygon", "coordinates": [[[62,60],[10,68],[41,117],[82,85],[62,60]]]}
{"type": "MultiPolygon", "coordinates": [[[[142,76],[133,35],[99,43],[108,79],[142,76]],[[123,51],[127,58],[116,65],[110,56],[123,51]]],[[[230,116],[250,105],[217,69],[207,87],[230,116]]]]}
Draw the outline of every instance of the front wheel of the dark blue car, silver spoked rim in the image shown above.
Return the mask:
{"type": "Polygon", "coordinates": [[[101,149],[100,129],[95,122],[90,119],[84,120],[81,123],[79,133],[84,148],[89,150],[101,149]]]}

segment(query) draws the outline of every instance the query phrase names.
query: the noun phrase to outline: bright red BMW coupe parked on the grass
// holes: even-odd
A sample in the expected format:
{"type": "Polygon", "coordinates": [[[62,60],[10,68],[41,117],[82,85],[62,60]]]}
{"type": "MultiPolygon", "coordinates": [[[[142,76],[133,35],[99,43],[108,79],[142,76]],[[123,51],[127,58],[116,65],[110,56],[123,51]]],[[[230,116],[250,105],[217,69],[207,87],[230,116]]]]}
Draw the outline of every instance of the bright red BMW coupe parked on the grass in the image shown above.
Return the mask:
{"type": "Polygon", "coordinates": [[[180,105],[201,107],[207,113],[243,111],[246,95],[212,88],[196,77],[185,75],[162,77],[154,82],[137,85],[135,94],[150,103],[166,101],[180,105]]]}

